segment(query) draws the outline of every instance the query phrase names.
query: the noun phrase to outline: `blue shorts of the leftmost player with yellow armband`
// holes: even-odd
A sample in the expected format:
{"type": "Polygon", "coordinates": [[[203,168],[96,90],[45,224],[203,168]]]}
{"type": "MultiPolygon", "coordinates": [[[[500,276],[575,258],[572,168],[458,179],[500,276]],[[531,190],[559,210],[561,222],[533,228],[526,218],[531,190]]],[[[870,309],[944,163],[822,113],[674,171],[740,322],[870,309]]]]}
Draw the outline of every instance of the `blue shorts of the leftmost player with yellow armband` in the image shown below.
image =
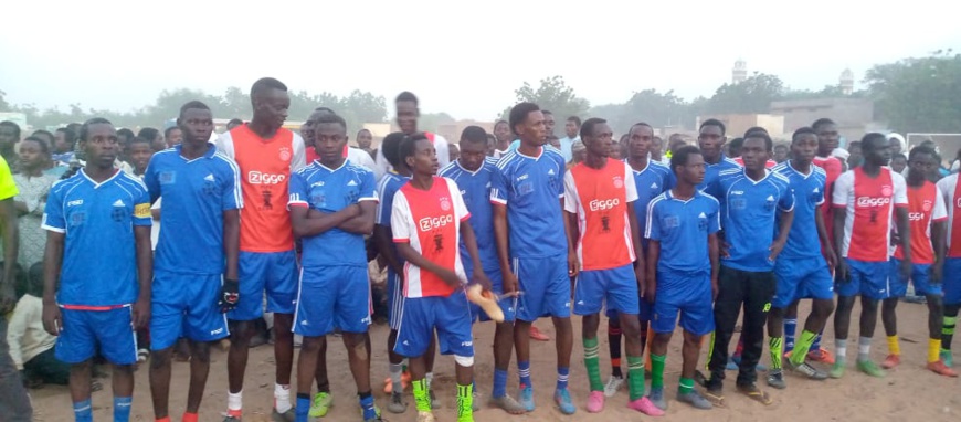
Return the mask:
{"type": "Polygon", "coordinates": [[[137,362],[137,334],[133,309],[123,306],[108,310],[60,309],[61,327],[54,356],[64,363],[81,363],[97,349],[110,363],[137,362]]]}

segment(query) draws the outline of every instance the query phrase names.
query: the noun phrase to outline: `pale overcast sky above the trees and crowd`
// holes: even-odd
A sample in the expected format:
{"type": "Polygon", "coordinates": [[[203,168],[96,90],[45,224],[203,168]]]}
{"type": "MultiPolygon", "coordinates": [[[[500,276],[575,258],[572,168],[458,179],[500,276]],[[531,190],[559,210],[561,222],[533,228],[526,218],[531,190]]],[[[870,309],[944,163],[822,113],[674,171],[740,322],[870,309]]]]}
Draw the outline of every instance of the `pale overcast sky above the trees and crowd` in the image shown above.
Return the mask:
{"type": "Polygon", "coordinates": [[[165,88],[246,92],[274,76],[293,91],[370,91],[388,103],[408,89],[425,113],[490,119],[525,81],[555,74],[600,105],[651,87],[710,96],[730,82],[739,57],[750,72],[820,89],[845,67],[860,85],[875,63],[961,50],[957,13],[937,0],[884,8],[838,0],[50,3],[4,7],[0,89],[10,102],[126,110],[165,88]]]}

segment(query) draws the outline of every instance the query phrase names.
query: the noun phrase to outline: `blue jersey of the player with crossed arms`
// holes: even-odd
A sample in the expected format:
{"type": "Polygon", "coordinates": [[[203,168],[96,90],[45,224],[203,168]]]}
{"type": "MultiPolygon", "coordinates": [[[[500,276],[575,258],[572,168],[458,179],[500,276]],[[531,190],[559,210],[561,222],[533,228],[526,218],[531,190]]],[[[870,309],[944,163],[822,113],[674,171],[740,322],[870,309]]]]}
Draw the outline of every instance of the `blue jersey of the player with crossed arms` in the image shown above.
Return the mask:
{"type": "MultiPolygon", "coordinates": [[[[314,161],[291,175],[288,207],[309,207],[334,213],[361,201],[377,201],[373,172],[347,160],[336,169],[314,161]]],[[[363,234],[337,228],[303,238],[300,264],[304,267],[367,266],[363,234]]]]}

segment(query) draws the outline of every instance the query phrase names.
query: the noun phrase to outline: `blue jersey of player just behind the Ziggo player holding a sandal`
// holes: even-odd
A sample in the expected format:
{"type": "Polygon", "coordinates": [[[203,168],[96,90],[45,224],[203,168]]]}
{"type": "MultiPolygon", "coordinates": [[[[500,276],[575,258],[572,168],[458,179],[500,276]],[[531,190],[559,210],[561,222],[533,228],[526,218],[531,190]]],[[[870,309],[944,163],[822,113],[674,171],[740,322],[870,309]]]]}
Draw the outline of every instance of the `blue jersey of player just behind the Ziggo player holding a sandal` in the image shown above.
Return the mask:
{"type": "MultiPolygon", "coordinates": [[[[454,180],[461,188],[461,197],[471,212],[471,229],[477,239],[477,253],[480,255],[483,270],[497,270],[497,245],[494,240],[494,209],[490,203],[492,179],[497,173],[497,160],[488,158],[477,171],[467,171],[461,167],[461,161],[454,161],[444,167],[440,176],[454,180]]],[[[461,241],[461,261],[471,262],[467,246],[461,241]]]]}

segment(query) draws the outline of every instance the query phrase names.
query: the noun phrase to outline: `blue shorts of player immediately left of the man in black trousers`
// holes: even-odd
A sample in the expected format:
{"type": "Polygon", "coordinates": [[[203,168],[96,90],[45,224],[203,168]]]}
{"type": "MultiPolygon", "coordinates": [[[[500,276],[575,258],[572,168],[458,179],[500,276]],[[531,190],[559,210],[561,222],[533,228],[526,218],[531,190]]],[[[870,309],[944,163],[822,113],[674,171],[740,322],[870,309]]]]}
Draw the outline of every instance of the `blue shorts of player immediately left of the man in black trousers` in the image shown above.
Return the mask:
{"type": "Polygon", "coordinates": [[[714,331],[714,297],[710,271],[694,273],[657,272],[657,292],[654,296],[654,333],[674,333],[677,314],[680,327],[695,336],[714,331]],[[662,287],[662,286],[669,287],[662,287]]]}

